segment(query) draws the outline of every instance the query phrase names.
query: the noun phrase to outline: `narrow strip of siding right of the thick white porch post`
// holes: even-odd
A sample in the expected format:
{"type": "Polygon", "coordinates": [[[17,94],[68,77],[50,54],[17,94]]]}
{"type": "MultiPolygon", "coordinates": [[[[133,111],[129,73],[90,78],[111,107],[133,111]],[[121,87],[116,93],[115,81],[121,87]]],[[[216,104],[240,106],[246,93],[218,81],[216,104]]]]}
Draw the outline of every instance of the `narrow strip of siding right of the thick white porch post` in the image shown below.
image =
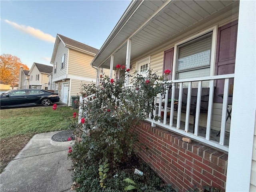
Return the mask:
{"type": "MultiPolygon", "coordinates": [[[[256,117],[255,117],[256,122],[256,117]]],[[[250,191],[256,191],[256,124],[254,125],[254,139],[252,146],[252,168],[251,168],[251,180],[250,191]]]]}

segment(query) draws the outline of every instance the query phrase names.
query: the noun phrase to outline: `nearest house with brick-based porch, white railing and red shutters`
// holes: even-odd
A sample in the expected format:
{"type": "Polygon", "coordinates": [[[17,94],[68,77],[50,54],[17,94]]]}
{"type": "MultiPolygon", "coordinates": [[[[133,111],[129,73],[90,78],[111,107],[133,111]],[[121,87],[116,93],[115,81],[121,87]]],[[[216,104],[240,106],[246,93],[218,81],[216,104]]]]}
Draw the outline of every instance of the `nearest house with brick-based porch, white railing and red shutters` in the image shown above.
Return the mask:
{"type": "Polygon", "coordinates": [[[135,0],[91,62],[110,74],[117,64],[142,75],[148,68],[158,75],[171,70],[172,94],[165,95],[171,106],[154,112],[163,111],[162,120],[148,118],[138,126],[138,138],[149,148],[139,155],[180,191],[194,185],[256,191],[255,8],[246,0],[135,0]],[[180,110],[181,96],[174,110],[175,88],[188,96],[197,89],[194,132],[193,118],[180,110]],[[209,89],[206,113],[200,112],[202,88],[209,89]]]}

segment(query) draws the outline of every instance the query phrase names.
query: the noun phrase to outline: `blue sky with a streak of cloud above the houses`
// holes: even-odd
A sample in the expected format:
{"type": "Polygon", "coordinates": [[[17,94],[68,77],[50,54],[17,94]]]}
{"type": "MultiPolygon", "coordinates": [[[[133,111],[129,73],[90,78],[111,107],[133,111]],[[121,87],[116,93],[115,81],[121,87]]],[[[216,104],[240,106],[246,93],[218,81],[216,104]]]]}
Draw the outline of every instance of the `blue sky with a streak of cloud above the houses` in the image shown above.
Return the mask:
{"type": "Polygon", "coordinates": [[[57,34],[100,49],[131,0],[1,0],[0,54],[50,64],[57,34]]]}

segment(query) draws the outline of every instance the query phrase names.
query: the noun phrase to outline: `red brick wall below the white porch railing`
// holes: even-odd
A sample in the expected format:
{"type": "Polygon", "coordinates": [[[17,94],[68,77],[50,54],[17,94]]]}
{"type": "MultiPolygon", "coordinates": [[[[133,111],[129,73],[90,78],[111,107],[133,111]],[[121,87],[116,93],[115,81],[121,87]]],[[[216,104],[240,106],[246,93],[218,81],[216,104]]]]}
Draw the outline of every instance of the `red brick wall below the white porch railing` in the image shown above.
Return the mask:
{"type": "MultiPolygon", "coordinates": [[[[160,127],[141,122],[136,128],[140,146],[139,156],[166,183],[185,192],[202,185],[225,191],[228,155],[196,141],[187,143],[182,136],[160,127]]],[[[139,145],[136,145],[139,148],[139,145]]]]}

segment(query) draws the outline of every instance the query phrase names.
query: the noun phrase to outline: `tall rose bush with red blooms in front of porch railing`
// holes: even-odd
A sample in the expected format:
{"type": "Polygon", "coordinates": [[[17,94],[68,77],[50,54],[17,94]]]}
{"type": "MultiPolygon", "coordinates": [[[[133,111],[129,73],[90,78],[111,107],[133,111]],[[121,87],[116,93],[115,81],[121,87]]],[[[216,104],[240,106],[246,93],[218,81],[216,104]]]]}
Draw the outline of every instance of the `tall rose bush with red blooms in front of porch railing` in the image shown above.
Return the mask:
{"type": "Polygon", "coordinates": [[[135,72],[130,75],[130,69],[124,65],[117,65],[119,78],[100,76],[99,85],[82,85],[80,94],[90,97],[82,106],[85,116],[81,119],[83,125],[83,142],[79,147],[73,147],[69,156],[76,161],[99,161],[108,159],[112,165],[125,162],[135,148],[137,136],[134,132],[136,125],[154,110],[154,97],[164,94],[165,76],[157,76],[148,71],[147,76],[135,72]],[[131,79],[132,87],[124,87],[126,76],[131,79]],[[90,135],[90,136],[89,136],[90,135]],[[72,157],[77,154],[76,148],[81,149],[84,155],[78,159],[72,157]]]}

